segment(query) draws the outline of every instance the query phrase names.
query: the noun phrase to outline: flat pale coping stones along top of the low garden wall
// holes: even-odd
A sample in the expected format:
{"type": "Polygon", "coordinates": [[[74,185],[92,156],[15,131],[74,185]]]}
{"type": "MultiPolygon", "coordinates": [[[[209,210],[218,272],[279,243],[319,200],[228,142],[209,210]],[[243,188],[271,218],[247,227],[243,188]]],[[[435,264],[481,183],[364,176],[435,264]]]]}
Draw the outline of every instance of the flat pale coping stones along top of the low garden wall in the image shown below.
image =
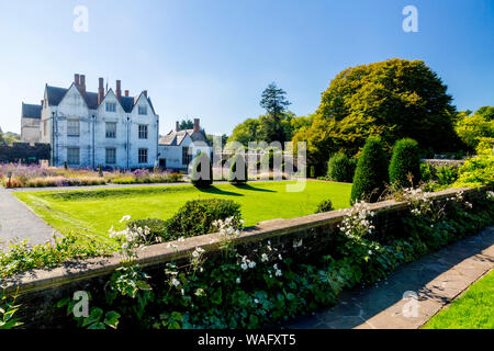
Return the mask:
{"type": "MultiPolygon", "coordinates": [[[[435,193],[428,193],[428,197],[444,199],[456,195],[459,192],[472,192],[476,189],[460,188],[448,189],[435,193]]],[[[369,204],[369,210],[374,212],[397,211],[407,206],[406,202],[395,202],[393,200],[369,204]]],[[[234,238],[235,244],[242,244],[252,240],[261,240],[270,237],[284,235],[304,228],[318,227],[341,222],[345,216],[345,210],[337,210],[319,214],[307,215],[290,219],[271,219],[258,223],[256,226],[244,229],[242,236],[234,238]]],[[[169,262],[180,258],[186,258],[191,252],[201,247],[206,251],[213,251],[218,248],[222,241],[220,234],[207,234],[187,238],[183,241],[169,241],[165,244],[144,247],[137,252],[137,263],[147,267],[157,263],[169,262]],[[170,245],[177,245],[173,249],[170,245]]],[[[47,270],[37,269],[14,275],[7,280],[7,291],[15,291],[24,294],[33,291],[46,290],[76,281],[88,280],[91,278],[112,273],[121,267],[122,256],[115,253],[111,257],[92,258],[85,261],[66,262],[64,265],[47,270]]]]}

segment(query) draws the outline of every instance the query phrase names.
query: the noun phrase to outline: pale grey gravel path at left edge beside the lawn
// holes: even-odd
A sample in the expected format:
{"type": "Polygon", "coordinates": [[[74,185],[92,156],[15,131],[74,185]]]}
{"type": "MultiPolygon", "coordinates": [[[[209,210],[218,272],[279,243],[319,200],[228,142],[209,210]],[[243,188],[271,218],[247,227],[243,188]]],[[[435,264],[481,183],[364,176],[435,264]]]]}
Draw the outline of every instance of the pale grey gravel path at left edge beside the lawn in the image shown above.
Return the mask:
{"type": "Polygon", "coordinates": [[[32,244],[43,244],[50,240],[53,234],[50,226],[0,186],[0,240],[30,238],[32,244]]]}

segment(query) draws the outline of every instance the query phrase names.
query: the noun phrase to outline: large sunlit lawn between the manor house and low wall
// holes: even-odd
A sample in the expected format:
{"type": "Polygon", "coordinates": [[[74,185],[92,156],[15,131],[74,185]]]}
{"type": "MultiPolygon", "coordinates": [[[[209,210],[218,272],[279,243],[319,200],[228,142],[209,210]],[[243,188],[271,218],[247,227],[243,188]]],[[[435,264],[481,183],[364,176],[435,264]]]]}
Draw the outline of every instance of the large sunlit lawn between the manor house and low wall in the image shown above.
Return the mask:
{"type": "Polygon", "coordinates": [[[108,238],[112,225],[123,226],[119,220],[124,215],[131,215],[132,219],[167,219],[193,199],[218,197],[239,203],[247,226],[313,214],[317,204],[326,199],[332,200],[335,208],[349,206],[351,184],[307,181],[305,191],[287,192],[288,183],[251,182],[242,188],[217,184],[210,190],[172,185],[14,194],[59,233],[83,230],[102,239],[108,238]]]}

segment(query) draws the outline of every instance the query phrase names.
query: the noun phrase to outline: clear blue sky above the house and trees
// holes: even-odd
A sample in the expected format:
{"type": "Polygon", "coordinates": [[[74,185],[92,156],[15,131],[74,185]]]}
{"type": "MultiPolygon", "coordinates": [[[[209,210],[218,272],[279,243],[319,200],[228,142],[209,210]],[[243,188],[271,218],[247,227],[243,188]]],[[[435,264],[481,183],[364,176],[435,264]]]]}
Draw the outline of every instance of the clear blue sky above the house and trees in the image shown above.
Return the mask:
{"type": "Polygon", "coordinates": [[[68,87],[85,73],[147,89],[161,133],[201,117],[231,134],[262,113],[276,81],[290,110],[314,112],[340,70],[386,58],[423,59],[459,110],[494,105],[494,0],[0,0],[0,126],[20,132],[21,102],[40,103],[45,83],[68,87]],[[405,5],[418,32],[405,33],[405,5]],[[74,31],[75,7],[89,31],[74,31]]]}

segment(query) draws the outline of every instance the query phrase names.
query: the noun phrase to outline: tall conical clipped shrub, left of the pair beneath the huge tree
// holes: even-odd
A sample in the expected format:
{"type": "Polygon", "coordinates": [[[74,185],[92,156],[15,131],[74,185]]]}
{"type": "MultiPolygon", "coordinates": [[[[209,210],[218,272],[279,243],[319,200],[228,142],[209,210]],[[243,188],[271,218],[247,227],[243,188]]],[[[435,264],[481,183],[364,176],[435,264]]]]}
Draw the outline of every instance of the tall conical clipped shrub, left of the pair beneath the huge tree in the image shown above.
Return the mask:
{"type": "Polygon", "coordinates": [[[388,182],[388,157],[379,137],[370,137],[363,146],[351,186],[351,201],[375,202],[388,182]]]}

